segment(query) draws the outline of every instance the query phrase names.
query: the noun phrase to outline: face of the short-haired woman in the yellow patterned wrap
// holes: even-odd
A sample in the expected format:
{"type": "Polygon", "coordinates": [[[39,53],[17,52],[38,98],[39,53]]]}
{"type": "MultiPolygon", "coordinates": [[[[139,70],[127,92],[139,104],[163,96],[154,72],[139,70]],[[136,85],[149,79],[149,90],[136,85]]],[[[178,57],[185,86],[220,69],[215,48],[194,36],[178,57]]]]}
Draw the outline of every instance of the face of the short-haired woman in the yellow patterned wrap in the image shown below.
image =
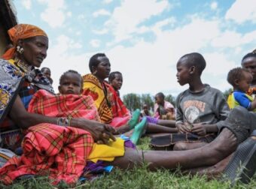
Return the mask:
{"type": "Polygon", "coordinates": [[[96,70],[95,76],[99,80],[105,80],[106,78],[108,78],[109,73],[111,71],[110,62],[109,62],[108,58],[105,56],[100,56],[98,58],[98,60],[99,60],[99,65],[97,65],[97,67],[95,68],[95,70],[96,70]]]}

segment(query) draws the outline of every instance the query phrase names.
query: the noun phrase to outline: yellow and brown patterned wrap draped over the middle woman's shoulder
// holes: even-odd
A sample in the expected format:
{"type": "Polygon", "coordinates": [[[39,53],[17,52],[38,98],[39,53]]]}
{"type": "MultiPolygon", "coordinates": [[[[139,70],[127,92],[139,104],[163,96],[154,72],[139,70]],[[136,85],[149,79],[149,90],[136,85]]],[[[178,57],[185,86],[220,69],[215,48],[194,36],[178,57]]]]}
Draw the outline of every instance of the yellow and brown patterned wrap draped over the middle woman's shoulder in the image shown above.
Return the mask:
{"type": "MultiPolygon", "coordinates": [[[[105,124],[111,123],[113,119],[112,110],[111,107],[108,107],[102,84],[99,83],[99,80],[93,76],[93,74],[85,75],[83,77],[83,82],[83,95],[90,95],[93,98],[100,120],[105,124]]],[[[110,101],[111,97],[109,92],[107,92],[106,98],[108,98],[108,101],[110,101]]]]}

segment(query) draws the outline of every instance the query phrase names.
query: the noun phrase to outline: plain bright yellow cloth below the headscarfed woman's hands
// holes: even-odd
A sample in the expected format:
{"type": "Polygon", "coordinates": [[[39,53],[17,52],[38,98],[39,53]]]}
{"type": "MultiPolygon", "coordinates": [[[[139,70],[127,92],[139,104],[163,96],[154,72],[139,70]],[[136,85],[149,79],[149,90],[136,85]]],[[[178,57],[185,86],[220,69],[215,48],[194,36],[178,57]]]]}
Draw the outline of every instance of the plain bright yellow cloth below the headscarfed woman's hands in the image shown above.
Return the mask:
{"type": "Polygon", "coordinates": [[[88,160],[96,163],[98,160],[113,161],[114,157],[120,157],[124,154],[124,140],[117,138],[116,141],[109,142],[108,145],[99,145],[94,143],[88,160]]]}

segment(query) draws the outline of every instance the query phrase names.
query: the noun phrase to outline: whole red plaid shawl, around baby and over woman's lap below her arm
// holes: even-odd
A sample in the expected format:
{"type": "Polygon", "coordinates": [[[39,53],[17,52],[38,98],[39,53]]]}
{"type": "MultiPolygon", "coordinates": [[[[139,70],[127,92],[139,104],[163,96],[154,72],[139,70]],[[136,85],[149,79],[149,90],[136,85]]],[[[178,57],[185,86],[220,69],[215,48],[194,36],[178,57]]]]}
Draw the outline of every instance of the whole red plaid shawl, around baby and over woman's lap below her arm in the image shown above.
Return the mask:
{"type": "MultiPolygon", "coordinates": [[[[97,119],[93,100],[87,96],[50,95],[39,90],[29,104],[29,111],[50,116],[97,119]]],[[[0,178],[11,184],[20,175],[50,173],[56,183],[78,181],[93,146],[86,130],[56,124],[29,127],[23,139],[23,155],[13,157],[0,169],[0,178]]]]}

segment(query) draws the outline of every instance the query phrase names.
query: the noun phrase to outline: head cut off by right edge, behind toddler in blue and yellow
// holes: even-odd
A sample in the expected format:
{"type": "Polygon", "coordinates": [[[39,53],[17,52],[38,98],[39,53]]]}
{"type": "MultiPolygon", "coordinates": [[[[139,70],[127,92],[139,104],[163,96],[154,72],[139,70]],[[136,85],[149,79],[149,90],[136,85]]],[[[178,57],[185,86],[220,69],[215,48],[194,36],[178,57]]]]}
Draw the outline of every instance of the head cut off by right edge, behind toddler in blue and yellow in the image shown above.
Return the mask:
{"type": "Polygon", "coordinates": [[[249,52],[242,58],[242,68],[248,69],[251,72],[253,81],[256,82],[256,49],[249,52]]]}

